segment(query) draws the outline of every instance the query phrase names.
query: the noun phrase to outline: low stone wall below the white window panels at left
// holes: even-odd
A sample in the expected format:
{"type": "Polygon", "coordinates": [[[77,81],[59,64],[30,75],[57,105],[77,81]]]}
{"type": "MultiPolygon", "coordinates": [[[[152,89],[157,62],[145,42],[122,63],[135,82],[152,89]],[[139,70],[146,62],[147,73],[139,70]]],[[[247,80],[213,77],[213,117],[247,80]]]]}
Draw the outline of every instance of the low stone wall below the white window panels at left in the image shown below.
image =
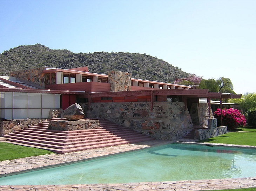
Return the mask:
{"type": "Polygon", "coordinates": [[[42,123],[47,119],[5,119],[0,120],[0,137],[14,131],[21,130],[36,123],[42,123]]]}

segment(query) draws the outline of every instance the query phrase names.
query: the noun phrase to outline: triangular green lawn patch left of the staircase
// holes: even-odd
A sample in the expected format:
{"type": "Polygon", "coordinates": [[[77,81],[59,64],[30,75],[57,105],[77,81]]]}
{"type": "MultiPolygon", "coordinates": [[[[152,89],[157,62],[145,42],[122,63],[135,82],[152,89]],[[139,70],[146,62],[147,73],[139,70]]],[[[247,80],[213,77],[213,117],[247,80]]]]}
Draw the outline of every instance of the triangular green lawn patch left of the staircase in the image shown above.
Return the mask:
{"type": "Polygon", "coordinates": [[[0,161],[50,154],[48,150],[0,142],[0,161]]]}

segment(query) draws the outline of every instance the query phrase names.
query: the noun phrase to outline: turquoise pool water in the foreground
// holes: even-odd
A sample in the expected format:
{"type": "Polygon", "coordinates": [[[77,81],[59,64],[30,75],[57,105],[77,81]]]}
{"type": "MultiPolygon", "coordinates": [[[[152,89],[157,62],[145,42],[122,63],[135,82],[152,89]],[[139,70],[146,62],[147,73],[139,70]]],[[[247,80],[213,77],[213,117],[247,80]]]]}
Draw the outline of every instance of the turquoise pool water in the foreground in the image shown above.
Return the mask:
{"type": "Polygon", "coordinates": [[[170,144],[0,178],[0,185],[98,184],[256,176],[256,149],[170,144]]]}

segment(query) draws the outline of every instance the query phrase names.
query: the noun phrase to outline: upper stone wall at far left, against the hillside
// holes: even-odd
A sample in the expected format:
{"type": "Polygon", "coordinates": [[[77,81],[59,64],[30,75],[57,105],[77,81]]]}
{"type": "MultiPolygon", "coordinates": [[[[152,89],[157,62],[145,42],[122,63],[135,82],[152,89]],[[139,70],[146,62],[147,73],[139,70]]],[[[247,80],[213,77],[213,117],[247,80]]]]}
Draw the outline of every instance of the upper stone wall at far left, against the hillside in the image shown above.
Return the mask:
{"type": "MultiPolygon", "coordinates": [[[[45,68],[31,68],[26,70],[13,71],[10,73],[10,76],[15,77],[16,79],[28,84],[35,85],[36,87],[45,87],[45,84],[50,83],[49,74],[43,73],[45,68]]],[[[55,83],[55,76],[52,76],[52,83],[55,83]]]]}

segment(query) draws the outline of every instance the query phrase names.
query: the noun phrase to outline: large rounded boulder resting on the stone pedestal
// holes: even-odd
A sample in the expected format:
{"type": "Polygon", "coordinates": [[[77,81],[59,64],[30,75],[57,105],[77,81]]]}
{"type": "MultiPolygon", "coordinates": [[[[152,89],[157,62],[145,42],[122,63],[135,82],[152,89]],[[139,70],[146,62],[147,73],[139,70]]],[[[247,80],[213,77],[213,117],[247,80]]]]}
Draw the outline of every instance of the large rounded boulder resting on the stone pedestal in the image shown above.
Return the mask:
{"type": "Polygon", "coordinates": [[[83,113],[83,109],[77,103],[70,105],[63,112],[63,118],[67,118],[69,121],[79,120],[85,117],[85,113],[83,113]]]}

